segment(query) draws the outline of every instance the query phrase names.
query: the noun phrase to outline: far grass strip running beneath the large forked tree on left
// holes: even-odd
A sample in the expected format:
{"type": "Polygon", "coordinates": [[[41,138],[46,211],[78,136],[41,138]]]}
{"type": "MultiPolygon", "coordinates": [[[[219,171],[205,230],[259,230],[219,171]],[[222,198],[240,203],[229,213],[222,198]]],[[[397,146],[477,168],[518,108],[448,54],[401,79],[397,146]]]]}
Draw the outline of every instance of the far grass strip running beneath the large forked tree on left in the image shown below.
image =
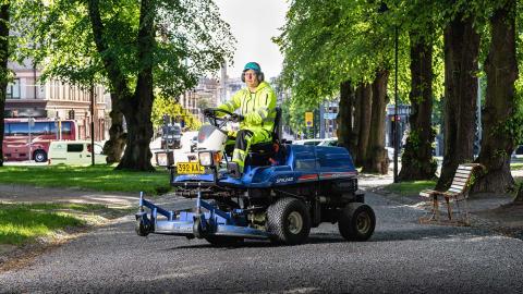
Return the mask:
{"type": "Polygon", "coordinates": [[[114,167],[2,167],[0,183],[47,187],[78,187],[105,192],[141,191],[159,195],[170,191],[169,172],[115,171],[114,167]]]}

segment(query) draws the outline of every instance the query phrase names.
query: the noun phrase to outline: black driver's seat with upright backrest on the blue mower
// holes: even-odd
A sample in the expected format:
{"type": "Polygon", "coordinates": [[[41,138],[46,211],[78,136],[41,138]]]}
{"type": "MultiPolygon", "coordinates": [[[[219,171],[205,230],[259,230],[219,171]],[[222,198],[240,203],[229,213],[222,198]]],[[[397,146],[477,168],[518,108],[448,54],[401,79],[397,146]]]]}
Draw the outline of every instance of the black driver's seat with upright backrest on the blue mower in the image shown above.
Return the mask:
{"type": "Polygon", "coordinates": [[[272,142],[258,143],[251,146],[245,166],[268,166],[269,159],[276,155],[280,147],[281,134],[281,108],[276,108],[275,126],[272,128],[272,142]]]}

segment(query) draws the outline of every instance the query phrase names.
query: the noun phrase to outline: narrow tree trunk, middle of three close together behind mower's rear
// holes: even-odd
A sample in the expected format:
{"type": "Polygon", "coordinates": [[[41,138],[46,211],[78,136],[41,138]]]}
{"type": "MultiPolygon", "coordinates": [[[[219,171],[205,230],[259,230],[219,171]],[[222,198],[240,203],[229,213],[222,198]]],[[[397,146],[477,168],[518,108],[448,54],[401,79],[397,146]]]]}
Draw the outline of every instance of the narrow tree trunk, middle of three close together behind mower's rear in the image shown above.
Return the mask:
{"type": "Polygon", "coordinates": [[[356,110],[357,112],[357,142],[354,147],[356,155],[354,156],[354,164],[363,167],[368,150],[368,138],[370,134],[370,120],[373,111],[373,87],[370,84],[362,84],[356,90],[356,110]]]}

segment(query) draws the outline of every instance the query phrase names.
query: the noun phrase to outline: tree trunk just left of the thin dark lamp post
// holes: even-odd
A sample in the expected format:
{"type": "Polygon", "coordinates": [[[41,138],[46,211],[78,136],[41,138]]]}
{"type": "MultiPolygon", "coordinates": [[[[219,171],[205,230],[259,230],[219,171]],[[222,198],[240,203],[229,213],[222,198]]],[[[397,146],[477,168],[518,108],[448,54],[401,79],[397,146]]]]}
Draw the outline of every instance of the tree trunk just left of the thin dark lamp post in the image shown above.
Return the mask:
{"type": "Polygon", "coordinates": [[[389,170],[389,157],[385,149],[385,119],[387,117],[387,83],[389,71],[380,70],[376,73],[373,83],[373,102],[370,114],[370,130],[366,159],[363,172],[387,174],[389,170]]]}

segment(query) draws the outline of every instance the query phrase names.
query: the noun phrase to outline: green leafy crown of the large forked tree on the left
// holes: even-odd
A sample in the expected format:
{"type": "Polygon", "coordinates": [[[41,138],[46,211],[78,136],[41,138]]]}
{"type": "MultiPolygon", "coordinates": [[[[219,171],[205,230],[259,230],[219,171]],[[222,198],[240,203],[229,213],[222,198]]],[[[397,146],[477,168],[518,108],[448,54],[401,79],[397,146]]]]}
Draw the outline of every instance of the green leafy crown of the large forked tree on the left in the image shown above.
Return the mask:
{"type": "Polygon", "coordinates": [[[24,17],[16,20],[24,36],[20,45],[23,56],[44,65],[42,78],[54,76],[84,86],[94,81],[110,87],[102,60],[110,57],[130,93],[137,73],[153,66],[155,87],[175,97],[232,57],[235,40],[212,0],[153,0],[153,10],[144,16],[154,17],[156,42],[145,59],[137,51],[141,1],[98,1],[107,45],[101,54],[94,42],[88,2],[23,1],[24,17]]]}

